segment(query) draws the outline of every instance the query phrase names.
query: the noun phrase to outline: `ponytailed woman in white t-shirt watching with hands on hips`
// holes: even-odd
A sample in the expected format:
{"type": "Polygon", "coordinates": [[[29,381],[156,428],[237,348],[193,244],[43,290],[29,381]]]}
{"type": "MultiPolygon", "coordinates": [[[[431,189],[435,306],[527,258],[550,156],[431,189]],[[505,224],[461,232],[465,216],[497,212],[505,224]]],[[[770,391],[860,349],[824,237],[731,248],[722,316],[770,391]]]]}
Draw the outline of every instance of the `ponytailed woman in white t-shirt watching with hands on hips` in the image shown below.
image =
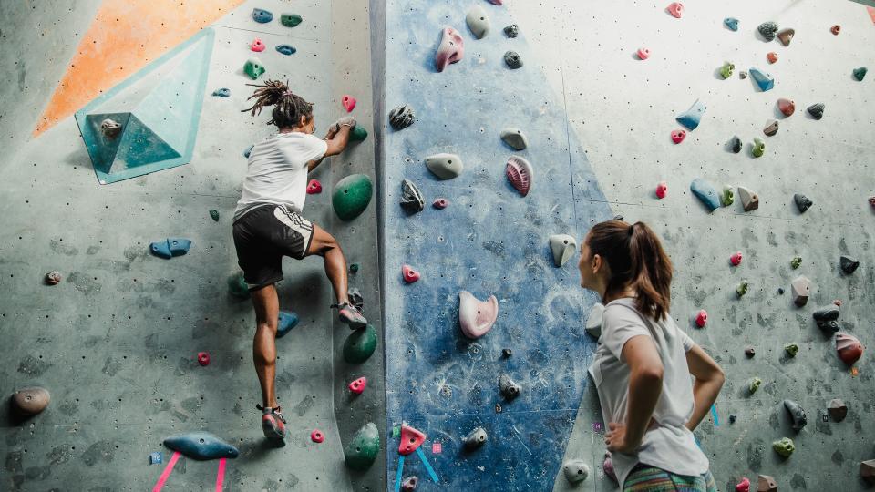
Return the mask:
{"type": "Polygon", "coordinates": [[[672,262],[659,238],[643,222],[601,222],[578,266],[581,285],[605,305],[590,374],[623,491],[716,491],[692,430],[725,377],[669,315],[672,262]]]}

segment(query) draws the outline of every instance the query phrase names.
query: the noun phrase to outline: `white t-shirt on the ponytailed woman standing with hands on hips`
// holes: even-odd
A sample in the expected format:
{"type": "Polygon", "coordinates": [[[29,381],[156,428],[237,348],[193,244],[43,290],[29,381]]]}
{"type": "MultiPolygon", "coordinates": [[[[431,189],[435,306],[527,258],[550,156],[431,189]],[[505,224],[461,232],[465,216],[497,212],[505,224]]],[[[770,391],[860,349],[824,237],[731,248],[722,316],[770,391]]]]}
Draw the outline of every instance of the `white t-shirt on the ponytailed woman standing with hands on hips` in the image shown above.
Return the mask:
{"type": "Polygon", "coordinates": [[[602,336],[590,366],[599,392],[605,430],[609,422],[625,425],[629,395],[629,364],[623,358],[623,345],[633,336],[653,338],[663,361],[663,391],[654,409],[650,426],[636,455],[612,453],[613,469],[620,486],[638,463],[656,466],[686,476],[708,471],[708,458],[695,444],[693,433],[685,427],[693,415],[693,382],[686,364],[686,352],[695,342],[671,316],[664,321],[646,321],[635,309],[633,298],[609,302],[602,314],[602,336]]]}

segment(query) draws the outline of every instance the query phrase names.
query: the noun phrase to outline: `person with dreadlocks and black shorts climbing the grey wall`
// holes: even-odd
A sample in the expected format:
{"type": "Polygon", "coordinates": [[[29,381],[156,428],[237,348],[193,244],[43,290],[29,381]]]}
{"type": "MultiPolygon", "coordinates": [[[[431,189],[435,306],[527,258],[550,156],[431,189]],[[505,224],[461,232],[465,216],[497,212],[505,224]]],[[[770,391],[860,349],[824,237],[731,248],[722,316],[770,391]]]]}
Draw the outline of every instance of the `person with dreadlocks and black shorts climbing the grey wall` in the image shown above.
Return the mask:
{"type": "Polygon", "coordinates": [[[265,106],[273,106],[268,125],[279,131],[252,147],[246,179],[233,233],[243,279],[249,285],[255,308],[255,338],[252,357],[262,386],[262,429],[269,439],[285,437],[285,419],[274,391],[279,299],[275,282],[283,280],[282,259],[319,255],[334,287],[340,320],[351,329],[364,328],[365,316],[350,302],[346,292],[346,259],[335,238],[301,215],[306,197],[307,173],[322,159],[339,154],[349,141],[355,119],[342,118],[325,138],[314,137],[313,104],[293,94],[280,81],[268,80],[252,94],[252,118],[265,106]]]}

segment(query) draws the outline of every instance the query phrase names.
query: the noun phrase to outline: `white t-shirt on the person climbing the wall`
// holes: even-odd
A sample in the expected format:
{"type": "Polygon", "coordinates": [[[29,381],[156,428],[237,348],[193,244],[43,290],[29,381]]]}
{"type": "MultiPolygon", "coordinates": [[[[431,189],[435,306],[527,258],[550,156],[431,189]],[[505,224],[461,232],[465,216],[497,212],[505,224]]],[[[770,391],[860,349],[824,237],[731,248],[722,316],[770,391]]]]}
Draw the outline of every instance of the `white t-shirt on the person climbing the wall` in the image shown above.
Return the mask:
{"type": "Polygon", "coordinates": [[[307,196],[307,162],[322,158],[328,143],[308,133],[277,133],[252,147],[234,220],[265,203],[301,213],[307,196]]]}

